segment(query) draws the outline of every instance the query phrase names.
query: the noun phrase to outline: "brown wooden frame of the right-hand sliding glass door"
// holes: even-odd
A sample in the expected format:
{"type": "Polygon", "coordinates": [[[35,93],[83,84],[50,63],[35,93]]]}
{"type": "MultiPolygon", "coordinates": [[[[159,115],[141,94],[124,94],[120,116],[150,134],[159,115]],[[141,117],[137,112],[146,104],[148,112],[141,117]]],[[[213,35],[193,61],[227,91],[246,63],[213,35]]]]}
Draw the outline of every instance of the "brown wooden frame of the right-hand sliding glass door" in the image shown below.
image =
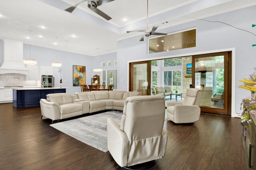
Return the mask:
{"type": "Polygon", "coordinates": [[[224,56],[224,108],[214,108],[214,107],[203,107],[200,106],[201,112],[206,113],[219,113],[231,115],[231,70],[232,70],[232,61],[231,61],[231,52],[220,52],[220,53],[209,53],[202,55],[193,55],[192,56],[192,88],[195,88],[195,59],[203,57],[215,57],[215,56],[224,56]]]}

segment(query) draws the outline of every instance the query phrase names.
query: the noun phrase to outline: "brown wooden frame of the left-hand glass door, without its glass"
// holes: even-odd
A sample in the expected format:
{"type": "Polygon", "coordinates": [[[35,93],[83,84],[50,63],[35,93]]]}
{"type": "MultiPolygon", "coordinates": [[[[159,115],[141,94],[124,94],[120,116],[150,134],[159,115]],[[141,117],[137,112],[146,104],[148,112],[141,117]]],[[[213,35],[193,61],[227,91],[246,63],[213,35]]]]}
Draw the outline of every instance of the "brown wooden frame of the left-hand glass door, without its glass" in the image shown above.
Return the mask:
{"type": "Polygon", "coordinates": [[[151,95],[151,61],[138,61],[129,63],[129,91],[133,90],[133,65],[134,64],[147,64],[147,77],[148,77],[148,87],[147,87],[147,95],[151,95]]]}

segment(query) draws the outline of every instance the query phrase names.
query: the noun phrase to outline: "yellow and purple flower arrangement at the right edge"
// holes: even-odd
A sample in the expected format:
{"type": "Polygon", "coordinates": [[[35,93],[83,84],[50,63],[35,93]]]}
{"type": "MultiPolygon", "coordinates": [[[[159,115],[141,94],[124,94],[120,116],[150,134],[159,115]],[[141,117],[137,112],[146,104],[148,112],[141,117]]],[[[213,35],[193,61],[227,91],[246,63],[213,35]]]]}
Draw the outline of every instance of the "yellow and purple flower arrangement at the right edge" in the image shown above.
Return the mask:
{"type": "MultiPolygon", "coordinates": [[[[256,92],[256,68],[254,67],[254,73],[251,74],[249,76],[248,79],[244,78],[244,80],[239,80],[240,82],[243,82],[244,85],[240,85],[239,87],[240,88],[243,88],[243,89],[246,89],[246,90],[250,90],[253,93],[256,92]]],[[[247,122],[248,124],[250,124],[252,122],[252,119],[250,117],[250,114],[249,112],[251,110],[256,110],[256,96],[252,95],[251,96],[252,98],[250,99],[246,99],[246,100],[243,100],[242,103],[240,104],[240,109],[242,109],[242,113],[238,114],[241,119],[239,121],[239,125],[244,125],[244,122],[247,122]],[[244,107],[242,108],[242,104],[244,104],[244,107]]],[[[246,128],[248,128],[246,125],[245,125],[246,128]]],[[[246,131],[244,131],[244,136],[246,136],[246,131]]]]}

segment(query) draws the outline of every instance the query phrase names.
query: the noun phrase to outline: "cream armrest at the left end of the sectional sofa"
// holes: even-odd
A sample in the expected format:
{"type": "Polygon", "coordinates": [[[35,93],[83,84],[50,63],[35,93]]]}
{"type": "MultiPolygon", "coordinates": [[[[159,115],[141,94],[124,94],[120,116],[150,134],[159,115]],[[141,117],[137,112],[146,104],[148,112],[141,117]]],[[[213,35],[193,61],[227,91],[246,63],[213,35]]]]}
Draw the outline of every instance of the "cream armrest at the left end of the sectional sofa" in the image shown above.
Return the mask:
{"type": "Polygon", "coordinates": [[[41,114],[52,120],[60,119],[60,105],[54,102],[49,102],[46,99],[40,100],[41,114]]]}

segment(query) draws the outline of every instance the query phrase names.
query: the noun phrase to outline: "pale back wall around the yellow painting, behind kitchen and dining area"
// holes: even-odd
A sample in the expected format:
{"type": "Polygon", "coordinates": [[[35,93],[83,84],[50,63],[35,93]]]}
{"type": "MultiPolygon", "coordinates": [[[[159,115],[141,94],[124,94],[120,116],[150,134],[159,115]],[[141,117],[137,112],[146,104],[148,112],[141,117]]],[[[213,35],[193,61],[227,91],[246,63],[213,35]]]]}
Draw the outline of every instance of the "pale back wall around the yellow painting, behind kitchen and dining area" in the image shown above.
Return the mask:
{"type": "MultiPolygon", "coordinates": [[[[29,59],[30,47],[23,46],[23,58],[29,59]]],[[[56,61],[56,49],[38,47],[31,45],[31,58],[37,61],[38,65],[51,66],[56,61]]],[[[67,93],[74,94],[81,92],[80,86],[73,86],[73,65],[86,66],[86,84],[91,82],[93,76],[93,57],[77,53],[57,50],[57,61],[62,63],[62,87],[68,88],[67,93]]],[[[59,85],[58,85],[59,86],[59,85]]]]}

